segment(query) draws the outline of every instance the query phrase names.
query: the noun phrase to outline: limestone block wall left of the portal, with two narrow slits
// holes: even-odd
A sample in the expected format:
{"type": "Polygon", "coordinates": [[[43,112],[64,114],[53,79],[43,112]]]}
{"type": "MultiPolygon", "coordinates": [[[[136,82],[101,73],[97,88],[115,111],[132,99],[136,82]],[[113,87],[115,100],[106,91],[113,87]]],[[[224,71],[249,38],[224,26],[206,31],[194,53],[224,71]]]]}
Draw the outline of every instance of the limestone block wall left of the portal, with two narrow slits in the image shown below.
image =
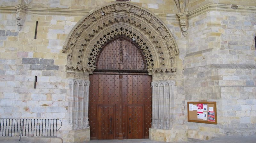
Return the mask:
{"type": "Polygon", "coordinates": [[[68,131],[72,126],[68,120],[67,55],[61,50],[81,17],[28,14],[21,31],[17,30],[15,14],[1,13],[0,17],[1,118],[58,117],[63,123],[58,136],[72,142],[72,132],[68,131]]]}

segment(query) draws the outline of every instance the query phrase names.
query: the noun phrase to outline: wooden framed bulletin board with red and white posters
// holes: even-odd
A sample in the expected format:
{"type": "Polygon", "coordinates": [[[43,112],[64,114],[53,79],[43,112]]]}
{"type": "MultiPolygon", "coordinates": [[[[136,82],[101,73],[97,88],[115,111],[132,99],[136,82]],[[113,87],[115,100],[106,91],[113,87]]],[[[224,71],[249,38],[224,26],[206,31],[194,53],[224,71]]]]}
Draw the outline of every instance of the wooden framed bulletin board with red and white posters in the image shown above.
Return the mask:
{"type": "Polygon", "coordinates": [[[217,124],[216,102],[188,102],[188,122],[217,124]]]}

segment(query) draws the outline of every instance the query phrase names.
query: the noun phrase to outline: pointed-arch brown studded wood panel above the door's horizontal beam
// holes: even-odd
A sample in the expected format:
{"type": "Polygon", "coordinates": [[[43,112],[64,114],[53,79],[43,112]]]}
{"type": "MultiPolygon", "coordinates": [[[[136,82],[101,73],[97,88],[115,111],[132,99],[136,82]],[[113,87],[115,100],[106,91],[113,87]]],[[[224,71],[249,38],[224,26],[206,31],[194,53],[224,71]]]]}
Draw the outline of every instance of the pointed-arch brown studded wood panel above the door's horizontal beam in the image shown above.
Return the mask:
{"type": "Polygon", "coordinates": [[[95,68],[96,71],[146,72],[147,57],[150,59],[152,55],[145,53],[134,40],[121,35],[109,40],[100,48],[95,57],[95,68]]]}

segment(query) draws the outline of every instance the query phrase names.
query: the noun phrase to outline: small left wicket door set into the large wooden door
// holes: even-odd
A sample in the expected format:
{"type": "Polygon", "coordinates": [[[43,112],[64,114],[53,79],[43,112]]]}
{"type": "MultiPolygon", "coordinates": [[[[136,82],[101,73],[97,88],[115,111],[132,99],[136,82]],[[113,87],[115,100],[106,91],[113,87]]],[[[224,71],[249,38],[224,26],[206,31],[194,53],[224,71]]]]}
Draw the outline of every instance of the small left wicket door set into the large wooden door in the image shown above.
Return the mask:
{"type": "Polygon", "coordinates": [[[97,139],[114,139],[114,105],[99,105],[97,112],[97,139]]]}

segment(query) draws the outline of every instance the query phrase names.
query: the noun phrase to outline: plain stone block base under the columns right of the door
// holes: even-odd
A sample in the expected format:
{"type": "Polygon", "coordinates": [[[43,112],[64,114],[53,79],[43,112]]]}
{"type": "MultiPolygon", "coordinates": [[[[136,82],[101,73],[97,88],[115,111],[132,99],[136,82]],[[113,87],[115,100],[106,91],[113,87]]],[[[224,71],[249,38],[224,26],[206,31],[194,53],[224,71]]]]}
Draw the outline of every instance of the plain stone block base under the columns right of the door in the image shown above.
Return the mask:
{"type": "Polygon", "coordinates": [[[178,142],[188,141],[187,130],[164,130],[149,128],[149,139],[155,141],[178,142]]]}

